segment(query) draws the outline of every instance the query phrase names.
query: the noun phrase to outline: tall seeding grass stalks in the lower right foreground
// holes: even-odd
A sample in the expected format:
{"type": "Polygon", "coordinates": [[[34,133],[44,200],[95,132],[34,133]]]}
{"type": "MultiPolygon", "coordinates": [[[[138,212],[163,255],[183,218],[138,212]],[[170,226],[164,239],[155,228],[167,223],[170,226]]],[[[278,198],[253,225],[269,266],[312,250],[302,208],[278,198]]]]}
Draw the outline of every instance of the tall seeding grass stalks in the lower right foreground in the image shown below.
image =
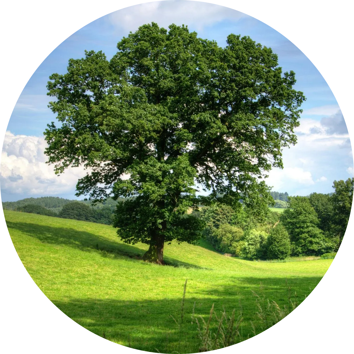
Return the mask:
{"type": "MultiPolygon", "coordinates": [[[[259,289],[261,295],[258,295],[255,291],[252,290],[253,295],[256,297],[256,306],[258,309],[257,313],[255,314],[255,317],[256,320],[261,320],[261,327],[258,331],[255,329],[253,322],[251,322],[252,336],[256,336],[257,334],[264,332],[270,327],[273,327],[297,308],[298,303],[296,292],[294,294],[295,301],[293,301],[291,287],[288,286],[287,281],[286,285],[288,290],[288,304],[283,308],[281,308],[275,301],[269,301],[269,299],[265,299],[264,288],[262,284],[260,285],[259,289]]],[[[176,319],[171,315],[173,320],[175,320],[176,325],[178,326],[180,338],[182,338],[182,323],[186,286],[187,279],[184,284],[183,297],[181,303],[181,317],[179,318],[179,321],[177,322],[176,319]]],[[[210,315],[207,321],[205,321],[201,315],[195,315],[194,309],[195,302],[193,306],[191,324],[195,323],[197,325],[199,353],[211,352],[212,350],[227,348],[250,338],[250,334],[248,334],[247,337],[244,337],[242,333],[243,317],[241,303],[239,315],[236,315],[236,309],[233,309],[232,314],[230,316],[226,313],[225,309],[223,309],[223,312],[221,312],[221,314],[218,316],[214,310],[214,304],[212,304],[212,307],[210,309],[210,315]]],[[[158,353],[160,353],[157,348],[155,349],[158,353]]],[[[177,350],[172,353],[179,354],[177,350]]]]}

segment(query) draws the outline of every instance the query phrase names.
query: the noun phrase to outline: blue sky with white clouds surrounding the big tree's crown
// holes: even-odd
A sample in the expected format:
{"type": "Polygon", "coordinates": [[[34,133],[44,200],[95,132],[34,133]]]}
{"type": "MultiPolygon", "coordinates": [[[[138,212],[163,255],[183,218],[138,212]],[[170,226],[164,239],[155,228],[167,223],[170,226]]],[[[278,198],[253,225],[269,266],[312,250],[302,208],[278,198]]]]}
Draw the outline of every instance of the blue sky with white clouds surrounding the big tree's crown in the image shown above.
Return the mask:
{"type": "Polygon", "coordinates": [[[269,186],[289,195],[331,193],[333,181],[354,176],[353,152],[348,128],[336,97],[324,77],[309,58],[284,35],[252,16],[231,8],[199,1],[167,0],[126,7],[85,25],[38,63],[8,121],[1,150],[1,200],[16,201],[29,197],[75,196],[83,167],[70,168],[60,176],[46,164],[46,125],[56,121],[47,107],[51,97],[46,85],[53,73],[65,74],[70,58],[84,57],[85,50],[102,50],[108,59],[116,53],[116,44],[145,23],[156,22],[168,28],[171,23],[188,25],[198,36],[216,40],[225,47],[230,33],[250,36],[271,47],[278,55],[282,71],[293,70],[296,84],[304,92],[297,144],[283,151],[284,169],[273,169],[266,179],[269,186]]]}

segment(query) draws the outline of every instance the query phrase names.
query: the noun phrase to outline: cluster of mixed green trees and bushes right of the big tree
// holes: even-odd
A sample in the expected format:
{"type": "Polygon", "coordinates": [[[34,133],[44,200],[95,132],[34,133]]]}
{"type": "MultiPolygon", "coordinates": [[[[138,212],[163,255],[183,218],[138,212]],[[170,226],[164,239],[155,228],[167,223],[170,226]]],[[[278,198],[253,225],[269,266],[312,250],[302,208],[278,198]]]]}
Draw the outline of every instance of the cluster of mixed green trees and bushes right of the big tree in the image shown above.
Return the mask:
{"type": "Polygon", "coordinates": [[[194,210],[192,215],[204,221],[204,237],[219,252],[247,259],[333,255],[346,233],[354,178],[334,181],[333,188],[334,193],[277,199],[288,205],[281,214],[267,208],[259,213],[246,206],[233,209],[215,203],[194,210]]]}

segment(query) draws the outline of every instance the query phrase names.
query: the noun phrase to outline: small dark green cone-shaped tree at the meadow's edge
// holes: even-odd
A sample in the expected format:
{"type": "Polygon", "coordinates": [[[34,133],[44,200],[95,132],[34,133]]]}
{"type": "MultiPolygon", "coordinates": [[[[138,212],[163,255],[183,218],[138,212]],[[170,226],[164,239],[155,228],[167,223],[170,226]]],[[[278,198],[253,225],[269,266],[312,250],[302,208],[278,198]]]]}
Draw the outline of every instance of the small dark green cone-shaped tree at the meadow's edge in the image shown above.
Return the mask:
{"type": "Polygon", "coordinates": [[[285,259],[290,256],[290,238],[282,224],[276,225],[267,239],[267,259],[285,259]]]}

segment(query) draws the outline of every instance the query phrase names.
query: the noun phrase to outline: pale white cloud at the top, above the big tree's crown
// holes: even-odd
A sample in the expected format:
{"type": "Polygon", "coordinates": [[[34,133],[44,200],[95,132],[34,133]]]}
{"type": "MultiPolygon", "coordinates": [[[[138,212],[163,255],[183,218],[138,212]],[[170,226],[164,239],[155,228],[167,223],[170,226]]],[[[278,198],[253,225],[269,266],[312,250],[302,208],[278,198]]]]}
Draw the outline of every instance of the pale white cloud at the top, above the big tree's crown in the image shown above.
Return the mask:
{"type": "Polygon", "coordinates": [[[107,18],[117,28],[135,32],[145,23],[156,22],[168,29],[171,23],[186,24],[201,30],[205,26],[249,15],[232,8],[201,1],[153,1],[133,5],[110,13],[107,18]]]}

